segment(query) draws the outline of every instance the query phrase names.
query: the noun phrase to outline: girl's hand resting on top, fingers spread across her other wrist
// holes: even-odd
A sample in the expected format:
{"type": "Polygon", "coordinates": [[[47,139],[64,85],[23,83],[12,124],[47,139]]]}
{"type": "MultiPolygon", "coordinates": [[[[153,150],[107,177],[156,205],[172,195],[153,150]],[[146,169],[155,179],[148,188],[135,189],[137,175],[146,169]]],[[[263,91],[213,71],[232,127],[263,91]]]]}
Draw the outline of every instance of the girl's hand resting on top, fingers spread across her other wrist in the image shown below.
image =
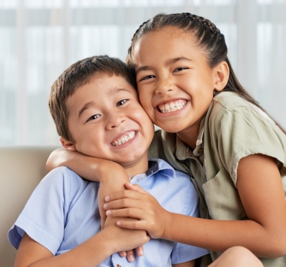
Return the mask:
{"type": "Polygon", "coordinates": [[[171,222],[171,212],[139,185],[126,183],[128,190],[110,194],[104,209],[108,217],[131,217],[134,221],[117,220],[116,225],[128,229],[146,230],[152,238],[163,236],[165,225],[171,222]]]}

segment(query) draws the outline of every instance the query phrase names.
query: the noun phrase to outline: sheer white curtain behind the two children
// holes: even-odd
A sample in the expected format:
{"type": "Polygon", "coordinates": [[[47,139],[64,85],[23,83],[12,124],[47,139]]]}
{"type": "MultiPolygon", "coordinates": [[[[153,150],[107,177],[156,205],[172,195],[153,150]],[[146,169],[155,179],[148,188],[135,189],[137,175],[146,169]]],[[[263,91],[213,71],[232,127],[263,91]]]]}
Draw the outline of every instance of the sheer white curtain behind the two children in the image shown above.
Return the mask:
{"type": "Polygon", "coordinates": [[[85,57],[125,60],[159,12],[216,23],[240,82],[286,127],[286,0],[0,0],[0,145],[59,145],[47,108],[55,79],[85,57]]]}

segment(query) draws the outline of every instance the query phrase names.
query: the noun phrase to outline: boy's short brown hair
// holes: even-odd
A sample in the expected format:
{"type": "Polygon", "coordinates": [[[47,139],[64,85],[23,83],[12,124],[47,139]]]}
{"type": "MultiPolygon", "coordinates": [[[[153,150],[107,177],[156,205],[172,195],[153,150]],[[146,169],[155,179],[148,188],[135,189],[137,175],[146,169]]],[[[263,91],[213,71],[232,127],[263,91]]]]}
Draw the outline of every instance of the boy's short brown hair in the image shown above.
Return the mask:
{"type": "Polygon", "coordinates": [[[134,71],[120,59],[103,55],[86,58],[74,63],[57,78],[50,92],[49,108],[59,136],[75,143],[68,129],[69,111],[66,100],[79,87],[88,84],[95,75],[101,74],[123,77],[136,89],[134,71]]]}

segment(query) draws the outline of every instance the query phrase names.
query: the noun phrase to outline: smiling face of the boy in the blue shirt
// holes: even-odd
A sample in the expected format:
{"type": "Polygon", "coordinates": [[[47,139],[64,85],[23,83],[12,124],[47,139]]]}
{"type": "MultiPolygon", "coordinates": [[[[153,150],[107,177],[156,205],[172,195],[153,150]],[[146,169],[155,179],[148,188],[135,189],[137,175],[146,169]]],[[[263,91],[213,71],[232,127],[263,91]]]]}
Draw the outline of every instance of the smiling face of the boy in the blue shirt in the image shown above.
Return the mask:
{"type": "Polygon", "coordinates": [[[146,161],[154,125],[136,90],[123,77],[100,74],[67,98],[68,127],[76,143],[62,144],[123,167],[146,161]]]}

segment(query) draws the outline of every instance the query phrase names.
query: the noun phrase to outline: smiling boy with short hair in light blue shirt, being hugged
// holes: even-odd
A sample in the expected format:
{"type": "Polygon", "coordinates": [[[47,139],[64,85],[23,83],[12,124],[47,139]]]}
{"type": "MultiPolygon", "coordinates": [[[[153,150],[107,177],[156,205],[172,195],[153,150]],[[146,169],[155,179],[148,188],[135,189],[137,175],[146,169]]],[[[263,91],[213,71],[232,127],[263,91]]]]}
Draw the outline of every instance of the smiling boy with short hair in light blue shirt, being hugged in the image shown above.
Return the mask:
{"type": "MultiPolygon", "coordinates": [[[[154,126],[135,87],[133,73],[118,59],[98,56],[71,65],[52,86],[49,100],[60,141],[68,150],[120,164],[131,182],[164,208],[198,217],[198,195],[189,177],[161,159],[148,161],[154,126]]],[[[98,190],[98,182],[66,167],[50,172],[8,233],[18,249],[15,266],[194,266],[208,253],[149,241],[145,231],[121,229],[109,218],[101,231],[98,190]],[[116,253],[143,244],[145,255],[133,262],[116,253]]]]}

